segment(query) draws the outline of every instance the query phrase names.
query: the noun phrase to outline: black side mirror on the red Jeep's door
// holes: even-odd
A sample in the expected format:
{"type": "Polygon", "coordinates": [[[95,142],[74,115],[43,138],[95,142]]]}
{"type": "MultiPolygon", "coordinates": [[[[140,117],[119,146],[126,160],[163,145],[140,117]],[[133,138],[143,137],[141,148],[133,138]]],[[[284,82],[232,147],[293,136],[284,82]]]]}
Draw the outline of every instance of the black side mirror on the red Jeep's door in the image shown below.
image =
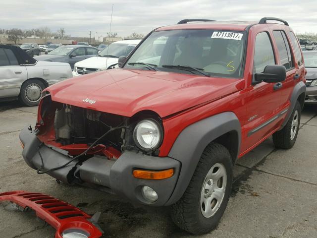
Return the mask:
{"type": "Polygon", "coordinates": [[[263,73],[254,75],[254,84],[261,83],[278,83],[286,78],[286,68],[283,65],[267,65],[263,73]]]}

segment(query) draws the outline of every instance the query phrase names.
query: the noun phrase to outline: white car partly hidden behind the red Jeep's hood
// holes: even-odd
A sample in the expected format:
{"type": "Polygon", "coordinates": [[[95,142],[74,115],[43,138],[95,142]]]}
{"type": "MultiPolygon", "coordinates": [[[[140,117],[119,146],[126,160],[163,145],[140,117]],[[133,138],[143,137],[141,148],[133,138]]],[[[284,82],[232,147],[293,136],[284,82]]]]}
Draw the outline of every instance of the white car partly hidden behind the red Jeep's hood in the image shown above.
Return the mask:
{"type": "Polygon", "coordinates": [[[106,70],[118,63],[120,56],[128,56],[141,40],[116,41],[102,50],[97,56],[75,63],[73,76],[106,70]]]}

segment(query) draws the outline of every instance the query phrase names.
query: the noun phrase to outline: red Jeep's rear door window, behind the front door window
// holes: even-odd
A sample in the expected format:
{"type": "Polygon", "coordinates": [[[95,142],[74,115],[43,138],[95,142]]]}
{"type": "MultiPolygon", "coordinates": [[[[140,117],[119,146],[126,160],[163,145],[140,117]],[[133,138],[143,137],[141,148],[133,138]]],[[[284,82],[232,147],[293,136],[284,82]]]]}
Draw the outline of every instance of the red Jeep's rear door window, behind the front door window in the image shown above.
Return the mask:
{"type": "Polygon", "coordinates": [[[286,48],[288,42],[284,40],[282,31],[273,31],[273,36],[277,45],[277,50],[280,58],[281,65],[286,69],[292,68],[292,57],[289,55],[289,51],[286,48]]]}

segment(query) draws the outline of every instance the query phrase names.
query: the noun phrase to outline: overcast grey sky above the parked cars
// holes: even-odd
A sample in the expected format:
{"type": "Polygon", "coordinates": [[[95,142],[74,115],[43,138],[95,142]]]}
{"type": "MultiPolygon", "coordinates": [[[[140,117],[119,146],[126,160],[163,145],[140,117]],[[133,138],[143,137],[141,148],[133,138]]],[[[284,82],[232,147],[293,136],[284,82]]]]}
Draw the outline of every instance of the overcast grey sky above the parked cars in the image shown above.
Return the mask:
{"type": "Polygon", "coordinates": [[[287,20],[296,33],[317,32],[316,0],[1,0],[0,28],[60,27],[71,36],[92,37],[96,32],[128,36],[147,34],[156,27],[184,18],[260,20],[274,16],[287,20]]]}

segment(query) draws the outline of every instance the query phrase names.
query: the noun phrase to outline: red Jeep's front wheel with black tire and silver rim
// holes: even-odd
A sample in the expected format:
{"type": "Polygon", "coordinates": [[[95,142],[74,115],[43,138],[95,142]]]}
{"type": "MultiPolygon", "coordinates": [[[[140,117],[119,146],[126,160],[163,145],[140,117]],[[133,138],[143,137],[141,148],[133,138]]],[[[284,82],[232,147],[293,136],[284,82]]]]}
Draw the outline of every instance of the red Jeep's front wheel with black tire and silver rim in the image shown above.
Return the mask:
{"type": "Polygon", "coordinates": [[[195,235],[206,234],[214,229],[228,204],[232,171],[233,165],[229,151],[220,144],[213,142],[209,144],[182,198],[171,207],[173,222],[179,228],[195,235]],[[222,177],[215,182],[213,175],[217,175],[217,172],[222,172],[222,177]],[[219,199],[215,200],[213,197],[219,193],[214,191],[219,191],[219,187],[222,188],[220,188],[221,196],[218,195],[219,199]],[[211,204],[212,208],[208,209],[205,203],[211,204]]]}

